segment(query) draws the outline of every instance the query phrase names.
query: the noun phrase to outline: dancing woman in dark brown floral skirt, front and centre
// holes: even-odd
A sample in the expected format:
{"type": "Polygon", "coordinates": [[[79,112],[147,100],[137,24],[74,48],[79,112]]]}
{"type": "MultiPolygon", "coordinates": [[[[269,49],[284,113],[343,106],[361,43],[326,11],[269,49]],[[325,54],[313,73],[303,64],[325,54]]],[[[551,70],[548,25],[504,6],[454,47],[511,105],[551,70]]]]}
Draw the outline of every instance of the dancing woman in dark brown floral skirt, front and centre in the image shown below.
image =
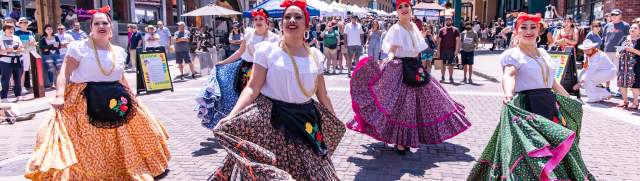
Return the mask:
{"type": "Polygon", "coordinates": [[[304,44],[306,2],[281,6],[282,41],[256,45],[248,86],[213,130],[228,152],[214,180],[338,180],[331,155],[345,128],[325,89],[324,56],[304,44]]]}

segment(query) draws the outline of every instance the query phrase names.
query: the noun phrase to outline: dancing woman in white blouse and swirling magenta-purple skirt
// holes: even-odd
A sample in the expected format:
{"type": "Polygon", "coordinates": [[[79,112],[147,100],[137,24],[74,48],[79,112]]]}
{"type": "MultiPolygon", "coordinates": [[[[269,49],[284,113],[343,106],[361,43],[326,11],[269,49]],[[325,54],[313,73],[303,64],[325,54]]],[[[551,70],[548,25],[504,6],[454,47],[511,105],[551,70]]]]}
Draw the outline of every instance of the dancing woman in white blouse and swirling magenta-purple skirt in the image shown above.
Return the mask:
{"type": "Polygon", "coordinates": [[[360,61],[351,79],[354,120],[349,129],[395,144],[400,155],[408,147],[438,144],[465,131],[471,123],[464,107],[431,80],[419,54],[427,43],[411,20],[408,0],[396,1],[400,21],[387,32],[382,51],[388,54],[380,68],[377,61],[360,61]]]}

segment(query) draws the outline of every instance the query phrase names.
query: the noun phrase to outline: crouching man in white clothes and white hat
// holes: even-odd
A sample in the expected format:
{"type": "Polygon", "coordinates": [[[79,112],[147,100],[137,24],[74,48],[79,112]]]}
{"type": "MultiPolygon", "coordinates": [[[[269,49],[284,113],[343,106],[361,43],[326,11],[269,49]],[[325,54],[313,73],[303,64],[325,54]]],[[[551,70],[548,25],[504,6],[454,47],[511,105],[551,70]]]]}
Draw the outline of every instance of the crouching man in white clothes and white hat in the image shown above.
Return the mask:
{"type": "Polygon", "coordinates": [[[573,86],[574,90],[583,87],[589,97],[586,102],[600,102],[608,99],[611,94],[599,85],[616,77],[616,67],[606,53],[598,49],[598,43],[586,39],[578,46],[584,52],[585,62],[588,62],[580,73],[580,81],[573,86]]]}

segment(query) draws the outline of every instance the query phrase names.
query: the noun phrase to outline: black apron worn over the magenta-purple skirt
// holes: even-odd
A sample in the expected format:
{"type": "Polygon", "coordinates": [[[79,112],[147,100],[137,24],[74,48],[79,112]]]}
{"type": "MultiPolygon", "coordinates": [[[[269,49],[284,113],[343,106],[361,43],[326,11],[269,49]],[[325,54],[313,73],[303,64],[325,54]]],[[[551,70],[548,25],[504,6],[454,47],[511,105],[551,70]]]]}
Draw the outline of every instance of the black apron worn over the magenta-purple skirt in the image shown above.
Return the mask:
{"type": "Polygon", "coordinates": [[[429,82],[430,75],[422,66],[418,58],[403,57],[402,61],[402,82],[409,87],[422,87],[429,82]]]}

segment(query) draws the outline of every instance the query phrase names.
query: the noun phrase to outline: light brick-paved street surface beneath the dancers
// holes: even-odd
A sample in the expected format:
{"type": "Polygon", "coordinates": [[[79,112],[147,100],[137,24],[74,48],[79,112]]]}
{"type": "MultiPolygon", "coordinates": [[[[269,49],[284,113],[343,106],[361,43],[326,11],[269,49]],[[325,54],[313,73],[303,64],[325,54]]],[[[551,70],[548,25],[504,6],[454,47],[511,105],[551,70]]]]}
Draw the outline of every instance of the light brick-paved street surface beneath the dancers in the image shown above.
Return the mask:
{"type": "MultiPolygon", "coordinates": [[[[479,56],[476,70],[498,78],[497,55],[479,56]]],[[[434,74],[437,80],[439,71],[434,74]]],[[[456,70],[456,80],[462,73],[456,70]]],[[[485,77],[486,77],[485,76],[485,77]]],[[[346,75],[327,76],[329,95],[338,117],[349,121],[351,100],[346,75]]],[[[220,166],[224,150],[196,119],[194,97],[206,78],[175,83],[175,92],[139,96],[167,127],[172,151],[170,171],[162,180],[207,180],[220,166]]],[[[475,77],[478,85],[444,86],[466,106],[473,126],[461,135],[437,145],[423,145],[413,154],[398,156],[378,141],[348,131],[333,162],[342,180],[465,180],[498,123],[501,92],[497,82],[475,77]]],[[[611,103],[613,104],[613,103],[611,103]]],[[[607,104],[608,105],[608,104],[607,104]]],[[[603,105],[585,106],[580,140],[582,156],[598,180],[638,180],[640,178],[640,114],[603,105]]],[[[19,180],[33,149],[35,132],[46,118],[15,125],[0,125],[0,180],[19,180]]]]}

